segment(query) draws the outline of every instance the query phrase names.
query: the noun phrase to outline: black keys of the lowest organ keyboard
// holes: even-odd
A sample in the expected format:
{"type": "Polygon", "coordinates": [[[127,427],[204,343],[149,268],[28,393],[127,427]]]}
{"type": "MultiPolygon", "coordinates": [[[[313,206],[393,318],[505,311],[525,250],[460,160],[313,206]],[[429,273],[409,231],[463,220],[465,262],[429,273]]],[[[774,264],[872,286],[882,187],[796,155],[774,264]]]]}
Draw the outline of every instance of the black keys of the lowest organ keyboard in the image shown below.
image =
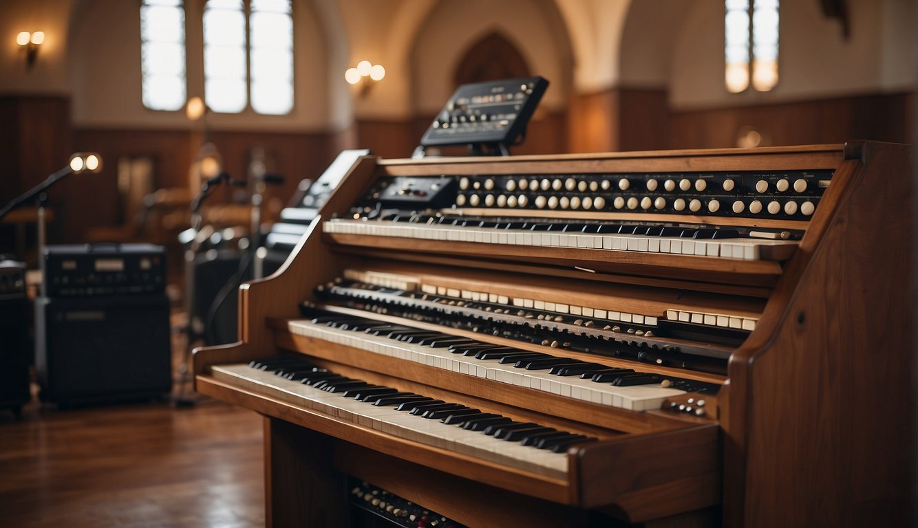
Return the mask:
{"type": "Polygon", "coordinates": [[[443,424],[456,425],[469,431],[480,431],[508,442],[520,442],[523,446],[550,449],[554,453],[564,453],[573,444],[595,440],[587,435],[558,431],[532,422],[517,422],[497,413],[483,413],[461,403],[444,402],[414,392],[402,392],[354,380],[317,367],[302,358],[280,356],[254,359],[249,366],[252,369],[274,371],[276,376],[285,380],[299,381],[321,391],[341,393],[344,398],[353,398],[376,407],[394,406],[396,411],[428,420],[440,420],[443,424]]]}

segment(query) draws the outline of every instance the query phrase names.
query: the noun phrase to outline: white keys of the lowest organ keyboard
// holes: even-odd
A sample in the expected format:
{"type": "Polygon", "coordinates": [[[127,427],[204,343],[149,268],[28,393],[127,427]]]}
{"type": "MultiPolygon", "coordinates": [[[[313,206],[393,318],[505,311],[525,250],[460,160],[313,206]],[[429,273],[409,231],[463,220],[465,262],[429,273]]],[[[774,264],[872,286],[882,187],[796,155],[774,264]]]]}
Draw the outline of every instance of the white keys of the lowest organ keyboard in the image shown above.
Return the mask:
{"type": "Polygon", "coordinates": [[[344,398],[341,393],[285,380],[273,372],[252,369],[248,365],[220,365],[213,367],[212,371],[219,379],[242,382],[255,391],[388,435],[553,477],[563,478],[567,473],[564,453],[507,442],[480,431],[469,431],[407,411],[396,411],[394,406],[377,407],[372,403],[344,398]]]}

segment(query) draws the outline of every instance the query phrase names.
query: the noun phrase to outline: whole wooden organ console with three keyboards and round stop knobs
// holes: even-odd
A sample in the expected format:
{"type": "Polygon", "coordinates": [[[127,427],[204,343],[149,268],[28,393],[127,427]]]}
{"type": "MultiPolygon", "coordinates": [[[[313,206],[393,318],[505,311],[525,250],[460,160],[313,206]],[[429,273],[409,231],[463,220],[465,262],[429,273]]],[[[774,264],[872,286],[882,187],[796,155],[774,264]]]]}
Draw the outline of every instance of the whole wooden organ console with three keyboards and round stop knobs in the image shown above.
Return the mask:
{"type": "Polygon", "coordinates": [[[366,156],[196,390],[274,526],[905,523],[910,208],[870,142],[366,156]]]}

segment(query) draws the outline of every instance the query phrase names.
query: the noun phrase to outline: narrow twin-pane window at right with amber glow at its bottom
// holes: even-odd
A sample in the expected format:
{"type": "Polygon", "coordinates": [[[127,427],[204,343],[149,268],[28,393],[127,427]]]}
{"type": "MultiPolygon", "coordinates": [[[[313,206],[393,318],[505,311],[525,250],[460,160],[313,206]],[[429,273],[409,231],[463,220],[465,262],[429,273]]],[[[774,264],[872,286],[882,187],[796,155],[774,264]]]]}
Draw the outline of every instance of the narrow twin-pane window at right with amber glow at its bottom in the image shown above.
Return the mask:
{"type": "Polygon", "coordinates": [[[778,0],[726,0],[724,81],[732,93],[778,84],[778,0]],[[751,68],[750,68],[751,66],[751,68]]]}

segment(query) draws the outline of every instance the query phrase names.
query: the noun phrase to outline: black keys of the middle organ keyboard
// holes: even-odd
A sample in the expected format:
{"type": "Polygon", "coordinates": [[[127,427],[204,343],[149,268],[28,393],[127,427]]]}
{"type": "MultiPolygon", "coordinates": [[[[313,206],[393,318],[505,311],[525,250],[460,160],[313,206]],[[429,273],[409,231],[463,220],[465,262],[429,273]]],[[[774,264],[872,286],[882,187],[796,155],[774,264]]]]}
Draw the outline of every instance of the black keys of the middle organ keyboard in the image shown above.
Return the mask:
{"type": "Polygon", "coordinates": [[[307,316],[312,315],[311,322],[317,325],[324,324],[339,330],[364,332],[370,336],[384,336],[421,347],[446,348],[453,354],[460,354],[465,357],[483,360],[497,359],[498,363],[512,365],[515,369],[548,370],[549,374],[555,376],[578,376],[584,380],[610,383],[618,387],[652,385],[668,380],[669,387],[682,391],[716,391],[715,386],[700,381],[673,379],[659,374],[614,368],[574,358],[559,358],[542,352],[530,352],[519,348],[493,345],[467,337],[451,336],[410,326],[393,325],[372,319],[348,318],[341,314],[333,314],[319,309],[310,309],[304,312],[307,316]]]}

